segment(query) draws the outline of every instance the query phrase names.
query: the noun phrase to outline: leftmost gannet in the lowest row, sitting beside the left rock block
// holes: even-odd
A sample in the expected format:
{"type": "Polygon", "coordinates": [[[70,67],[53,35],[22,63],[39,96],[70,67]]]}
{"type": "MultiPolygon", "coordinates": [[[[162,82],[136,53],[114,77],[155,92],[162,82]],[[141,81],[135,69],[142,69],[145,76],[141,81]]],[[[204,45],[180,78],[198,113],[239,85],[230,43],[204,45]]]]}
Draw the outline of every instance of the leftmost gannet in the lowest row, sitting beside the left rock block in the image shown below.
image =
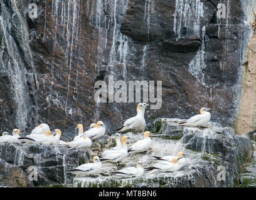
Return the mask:
{"type": "Polygon", "coordinates": [[[93,176],[99,174],[102,168],[102,163],[98,156],[93,157],[93,163],[82,164],[75,169],[68,171],[75,175],[93,176]]]}

